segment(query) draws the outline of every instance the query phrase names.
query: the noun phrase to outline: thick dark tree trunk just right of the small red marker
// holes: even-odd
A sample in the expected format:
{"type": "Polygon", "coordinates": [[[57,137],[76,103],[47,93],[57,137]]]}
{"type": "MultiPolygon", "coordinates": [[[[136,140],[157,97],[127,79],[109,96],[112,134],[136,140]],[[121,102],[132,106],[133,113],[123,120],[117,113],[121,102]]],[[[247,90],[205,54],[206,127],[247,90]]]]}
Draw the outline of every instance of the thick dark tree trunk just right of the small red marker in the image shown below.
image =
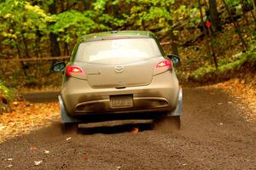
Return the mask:
{"type": "Polygon", "coordinates": [[[210,12],[210,21],[212,22],[212,30],[220,31],[221,24],[218,17],[217,3],[216,0],[209,0],[209,12],[210,12]]]}

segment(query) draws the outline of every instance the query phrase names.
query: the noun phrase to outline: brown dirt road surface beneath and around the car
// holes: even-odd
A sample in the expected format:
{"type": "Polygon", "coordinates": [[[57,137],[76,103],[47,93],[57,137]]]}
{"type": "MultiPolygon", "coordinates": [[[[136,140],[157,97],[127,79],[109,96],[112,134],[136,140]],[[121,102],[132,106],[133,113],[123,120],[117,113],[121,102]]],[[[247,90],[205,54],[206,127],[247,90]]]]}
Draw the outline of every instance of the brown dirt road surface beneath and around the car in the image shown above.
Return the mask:
{"type": "Polygon", "coordinates": [[[56,120],[0,144],[0,169],[256,169],[256,124],[243,118],[247,109],[217,89],[183,94],[179,131],[137,123],[62,134],[56,120]]]}

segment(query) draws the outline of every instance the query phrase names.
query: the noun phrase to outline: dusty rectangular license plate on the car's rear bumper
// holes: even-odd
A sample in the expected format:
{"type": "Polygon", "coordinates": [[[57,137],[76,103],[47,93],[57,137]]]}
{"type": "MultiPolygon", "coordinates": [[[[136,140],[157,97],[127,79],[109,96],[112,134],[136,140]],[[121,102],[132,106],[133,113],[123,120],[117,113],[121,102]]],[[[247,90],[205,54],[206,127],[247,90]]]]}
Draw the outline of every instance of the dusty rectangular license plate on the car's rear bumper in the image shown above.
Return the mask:
{"type": "Polygon", "coordinates": [[[110,96],[110,108],[130,108],[133,107],[132,94],[110,96]]]}

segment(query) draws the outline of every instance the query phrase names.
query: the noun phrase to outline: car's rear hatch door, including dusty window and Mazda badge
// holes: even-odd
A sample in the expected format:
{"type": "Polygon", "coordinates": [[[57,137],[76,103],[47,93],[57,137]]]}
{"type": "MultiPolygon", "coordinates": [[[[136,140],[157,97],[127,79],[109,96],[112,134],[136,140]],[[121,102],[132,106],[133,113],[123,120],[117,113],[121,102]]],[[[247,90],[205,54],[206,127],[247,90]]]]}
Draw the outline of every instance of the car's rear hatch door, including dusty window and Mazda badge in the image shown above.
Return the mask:
{"type": "Polygon", "coordinates": [[[148,85],[161,56],[153,38],[109,39],[81,43],[74,65],[91,88],[125,88],[148,85]]]}

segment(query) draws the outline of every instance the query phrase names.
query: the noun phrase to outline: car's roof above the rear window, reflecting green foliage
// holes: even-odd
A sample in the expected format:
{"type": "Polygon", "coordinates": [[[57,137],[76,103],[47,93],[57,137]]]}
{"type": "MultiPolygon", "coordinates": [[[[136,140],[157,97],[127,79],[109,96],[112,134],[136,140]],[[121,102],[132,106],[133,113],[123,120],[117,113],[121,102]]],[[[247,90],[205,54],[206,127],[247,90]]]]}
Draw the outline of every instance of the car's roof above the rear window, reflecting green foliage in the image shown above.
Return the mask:
{"type": "Polygon", "coordinates": [[[151,37],[156,39],[155,35],[151,31],[104,31],[98,33],[91,33],[79,37],[78,42],[87,42],[87,41],[98,41],[101,39],[108,39],[109,37],[127,37],[127,38],[136,38],[136,37],[151,37]]]}

